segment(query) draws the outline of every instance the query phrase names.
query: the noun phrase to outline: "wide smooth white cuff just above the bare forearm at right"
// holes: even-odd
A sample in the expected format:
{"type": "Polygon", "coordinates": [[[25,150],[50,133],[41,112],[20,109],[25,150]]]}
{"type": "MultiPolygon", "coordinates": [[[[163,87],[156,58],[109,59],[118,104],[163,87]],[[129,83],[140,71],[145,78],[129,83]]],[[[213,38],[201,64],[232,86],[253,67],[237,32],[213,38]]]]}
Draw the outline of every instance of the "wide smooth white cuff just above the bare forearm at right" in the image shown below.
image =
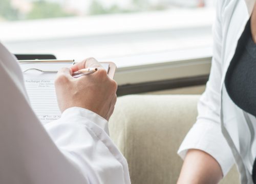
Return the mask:
{"type": "Polygon", "coordinates": [[[214,157],[221,166],[225,176],[234,164],[233,155],[219,124],[200,120],[189,130],[182,142],[178,154],[185,158],[189,149],[202,150],[214,157]]]}

